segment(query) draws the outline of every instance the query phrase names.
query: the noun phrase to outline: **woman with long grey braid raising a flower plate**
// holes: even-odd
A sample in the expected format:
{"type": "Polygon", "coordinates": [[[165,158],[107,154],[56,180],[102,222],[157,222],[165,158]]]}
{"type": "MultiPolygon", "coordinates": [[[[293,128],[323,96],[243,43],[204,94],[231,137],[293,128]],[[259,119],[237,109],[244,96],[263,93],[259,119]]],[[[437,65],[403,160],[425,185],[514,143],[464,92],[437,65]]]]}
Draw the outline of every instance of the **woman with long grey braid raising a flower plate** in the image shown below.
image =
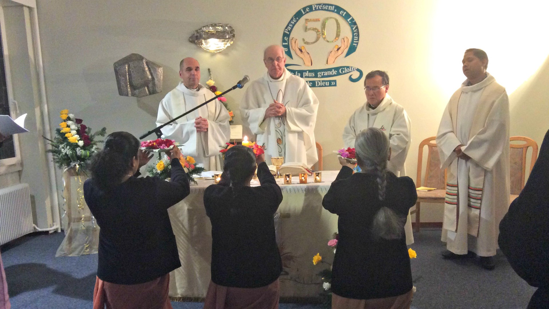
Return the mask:
{"type": "Polygon", "coordinates": [[[353,164],[341,170],[322,205],[338,214],[339,242],[332,270],[333,308],[410,308],[412,273],[404,223],[417,200],[410,177],[386,169],[389,140],[368,128],[356,137],[353,164]]]}

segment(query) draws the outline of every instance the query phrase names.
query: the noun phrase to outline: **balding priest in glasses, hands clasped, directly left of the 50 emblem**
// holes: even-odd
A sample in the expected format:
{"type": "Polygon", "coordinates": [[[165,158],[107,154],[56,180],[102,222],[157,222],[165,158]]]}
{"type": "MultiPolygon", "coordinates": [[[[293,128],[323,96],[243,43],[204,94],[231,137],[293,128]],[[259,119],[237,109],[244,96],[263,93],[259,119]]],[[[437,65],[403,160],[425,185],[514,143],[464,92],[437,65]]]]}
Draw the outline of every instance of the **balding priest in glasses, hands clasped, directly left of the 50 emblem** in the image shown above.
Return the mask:
{"type": "Polygon", "coordinates": [[[240,112],[257,144],[265,144],[267,162],[282,156],[284,162],[310,168],[318,161],[314,133],[318,99],[304,79],[285,69],[285,62],[282,47],[265,49],[267,73],[250,82],[240,112]]]}

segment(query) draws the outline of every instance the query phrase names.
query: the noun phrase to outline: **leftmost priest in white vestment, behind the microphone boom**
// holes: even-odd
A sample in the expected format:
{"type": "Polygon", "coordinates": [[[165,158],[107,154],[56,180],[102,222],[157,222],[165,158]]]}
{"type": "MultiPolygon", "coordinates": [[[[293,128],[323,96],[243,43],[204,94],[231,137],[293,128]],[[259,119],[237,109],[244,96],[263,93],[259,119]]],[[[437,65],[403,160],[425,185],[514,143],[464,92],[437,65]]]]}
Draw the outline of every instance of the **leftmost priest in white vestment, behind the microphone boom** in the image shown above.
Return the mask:
{"type": "MultiPolygon", "coordinates": [[[[164,124],[215,97],[213,92],[200,84],[200,65],[196,59],[181,60],[179,76],[183,81],[160,102],[156,125],[164,124]]],[[[223,104],[214,100],[165,126],[162,133],[166,139],[183,144],[181,152],[194,157],[206,170],[222,170],[219,151],[231,136],[229,118],[223,104]]]]}

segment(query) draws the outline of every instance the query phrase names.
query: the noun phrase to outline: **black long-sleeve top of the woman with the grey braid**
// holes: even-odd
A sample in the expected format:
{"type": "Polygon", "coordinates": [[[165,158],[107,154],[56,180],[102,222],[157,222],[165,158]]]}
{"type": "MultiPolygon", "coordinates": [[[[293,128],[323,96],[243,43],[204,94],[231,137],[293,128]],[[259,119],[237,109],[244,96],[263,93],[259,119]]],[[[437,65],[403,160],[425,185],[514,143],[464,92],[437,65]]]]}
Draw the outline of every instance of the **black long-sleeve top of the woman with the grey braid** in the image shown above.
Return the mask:
{"type": "Polygon", "coordinates": [[[373,218],[386,206],[406,219],[417,200],[410,177],[388,173],[385,200],[378,198],[376,176],[352,174],[342,167],[324,196],[322,206],[338,218],[339,241],[332,269],[333,293],[351,299],[378,299],[408,293],[412,289],[410,257],[404,228],[396,240],[372,237],[373,218]]]}

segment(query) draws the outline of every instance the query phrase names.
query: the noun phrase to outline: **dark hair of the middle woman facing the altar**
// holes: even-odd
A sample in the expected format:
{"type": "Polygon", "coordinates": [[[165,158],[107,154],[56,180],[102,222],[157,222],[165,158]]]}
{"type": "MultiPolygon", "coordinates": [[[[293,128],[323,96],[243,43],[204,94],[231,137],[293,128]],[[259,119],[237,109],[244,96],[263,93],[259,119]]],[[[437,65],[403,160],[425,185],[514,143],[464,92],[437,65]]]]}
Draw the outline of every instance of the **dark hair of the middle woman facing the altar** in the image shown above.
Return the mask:
{"type": "Polygon", "coordinates": [[[245,181],[254,175],[255,168],[255,154],[251,148],[237,145],[225,152],[223,174],[229,176],[234,189],[244,186],[245,181]]]}

